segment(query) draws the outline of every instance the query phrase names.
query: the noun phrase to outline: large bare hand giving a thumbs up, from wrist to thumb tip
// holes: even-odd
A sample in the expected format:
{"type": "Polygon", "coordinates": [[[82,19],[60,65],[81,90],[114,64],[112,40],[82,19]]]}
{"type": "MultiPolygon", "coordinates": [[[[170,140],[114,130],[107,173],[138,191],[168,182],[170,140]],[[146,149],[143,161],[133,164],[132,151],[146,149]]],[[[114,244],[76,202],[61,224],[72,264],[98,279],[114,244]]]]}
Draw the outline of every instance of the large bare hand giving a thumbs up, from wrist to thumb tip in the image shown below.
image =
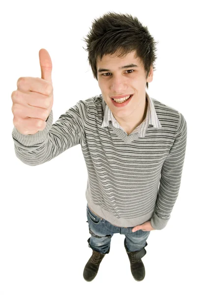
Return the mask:
{"type": "Polygon", "coordinates": [[[54,102],[52,60],[46,49],[40,49],[39,63],[41,78],[19,78],[17,90],[11,94],[13,124],[25,135],[35,134],[46,127],[54,102]]]}

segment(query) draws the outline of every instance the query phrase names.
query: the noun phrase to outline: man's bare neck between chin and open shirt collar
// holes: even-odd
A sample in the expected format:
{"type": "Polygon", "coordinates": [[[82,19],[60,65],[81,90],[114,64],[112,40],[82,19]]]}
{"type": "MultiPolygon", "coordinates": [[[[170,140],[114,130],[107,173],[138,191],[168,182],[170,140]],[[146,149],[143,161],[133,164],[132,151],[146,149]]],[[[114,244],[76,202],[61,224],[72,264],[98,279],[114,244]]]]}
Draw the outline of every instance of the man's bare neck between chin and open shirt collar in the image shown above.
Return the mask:
{"type": "Polygon", "coordinates": [[[135,120],[134,121],[122,121],[119,118],[116,118],[114,115],[113,116],[116,118],[116,120],[118,121],[119,125],[124,129],[124,131],[129,135],[146,118],[146,115],[147,115],[147,107],[148,107],[148,102],[147,102],[147,98],[146,98],[144,104],[141,105],[140,108],[138,109],[139,113],[135,117],[135,120]]]}

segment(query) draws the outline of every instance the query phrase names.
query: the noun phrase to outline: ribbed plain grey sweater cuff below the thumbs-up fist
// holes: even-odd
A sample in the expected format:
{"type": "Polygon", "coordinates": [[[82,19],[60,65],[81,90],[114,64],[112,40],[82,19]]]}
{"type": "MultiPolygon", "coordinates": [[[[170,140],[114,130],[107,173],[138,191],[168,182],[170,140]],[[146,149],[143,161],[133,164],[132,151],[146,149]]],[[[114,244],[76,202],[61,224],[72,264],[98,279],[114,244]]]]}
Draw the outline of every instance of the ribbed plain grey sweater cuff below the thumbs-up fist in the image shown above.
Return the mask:
{"type": "Polygon", "coordinates": [[[49,130],[53,123],[53,111],[51,110],[49,117],[46,120],[46,127],[42,131],[38,131],[35,134],[22,134],[20,133],[15,127],[12,130],[12,137],[15,141],[15,145],[22,147],[32,147],[36,144],[41,144],[45,141],[47,138],[47,134],[49,133],[49,130]]]}

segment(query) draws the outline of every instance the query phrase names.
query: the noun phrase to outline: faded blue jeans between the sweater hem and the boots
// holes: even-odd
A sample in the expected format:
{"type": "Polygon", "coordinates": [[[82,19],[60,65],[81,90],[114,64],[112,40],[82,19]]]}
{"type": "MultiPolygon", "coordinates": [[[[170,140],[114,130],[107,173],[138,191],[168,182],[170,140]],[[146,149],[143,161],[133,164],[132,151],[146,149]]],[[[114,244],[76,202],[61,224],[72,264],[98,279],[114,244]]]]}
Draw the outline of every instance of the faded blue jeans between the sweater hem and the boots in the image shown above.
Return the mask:
{"type": "MultiPolygon", "coordinates": [[[[88,247],[100,253],[107,254],[110,252],[111,238],[114,234],[119,233],[125,235],[124,246],[128,252],[141,251],[147,246],[147,237],[149,232],[142,230],[132,233],[133,227],[118,227],[112,225],[106,219],[100,218],[95,215],[88,207],[87,204],[87,218],[88,228],[91,237],[88,239],[88,247]]],[[[141,253],[146,253],[143,250],[141,253]]],[[[140,253],[140,255],[141,255],[140,253]]]]}

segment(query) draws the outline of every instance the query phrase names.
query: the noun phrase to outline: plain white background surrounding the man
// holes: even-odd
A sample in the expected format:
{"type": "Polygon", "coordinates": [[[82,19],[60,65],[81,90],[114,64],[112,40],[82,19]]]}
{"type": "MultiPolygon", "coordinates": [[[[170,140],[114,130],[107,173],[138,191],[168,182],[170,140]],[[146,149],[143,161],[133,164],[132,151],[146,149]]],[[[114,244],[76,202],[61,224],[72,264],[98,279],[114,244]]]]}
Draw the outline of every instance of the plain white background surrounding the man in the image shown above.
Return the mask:
{"type": "Polygon", "coordinates": [[[0,6],[0,295],[205,294],[204,1],[4,1],[0,6]],[[5,4],[6,3],[6,4],[5,4]],[[151,231],[146,276],[133,279],[123,235],[92,282],[83,270],[92,254],[86,215],[87,168],[81,146],[39,166],[15,155],[11,93],[19,77],[40,77],[38,52],[52,63],[55,122],[100,94],[83,49],[94,18],[130,13],[158,40],[147,93],[187,121],[181,186],[171,219],[151,231]]]}

